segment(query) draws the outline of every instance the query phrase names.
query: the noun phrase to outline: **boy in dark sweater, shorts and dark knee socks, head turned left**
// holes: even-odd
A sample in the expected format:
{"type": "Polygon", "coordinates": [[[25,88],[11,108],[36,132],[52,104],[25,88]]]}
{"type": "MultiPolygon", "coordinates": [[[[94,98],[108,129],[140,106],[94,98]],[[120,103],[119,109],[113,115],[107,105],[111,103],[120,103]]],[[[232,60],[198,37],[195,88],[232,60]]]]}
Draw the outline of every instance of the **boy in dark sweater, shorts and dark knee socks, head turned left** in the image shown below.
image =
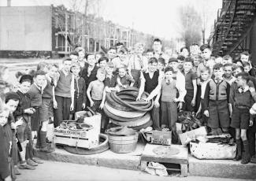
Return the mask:
{"type": "Polygon", "coordinates": [[[247,129],[253,125],[254,116],[250,114],[250,108],[254,104],[254,98],[248,85],[249,77],[246,72],[236,75],[236,83],[232,85],[229,95],[229,108],[232,114],[231,127],[236,128],[236,157],[234,161],[242,159],[241,164],[250,162],[249,142],[247,140],[247,129]],[[242,142],[243,146],[242,146],[242,142]],[[242,153],[242,147],[244,153],[242,153]]]}

